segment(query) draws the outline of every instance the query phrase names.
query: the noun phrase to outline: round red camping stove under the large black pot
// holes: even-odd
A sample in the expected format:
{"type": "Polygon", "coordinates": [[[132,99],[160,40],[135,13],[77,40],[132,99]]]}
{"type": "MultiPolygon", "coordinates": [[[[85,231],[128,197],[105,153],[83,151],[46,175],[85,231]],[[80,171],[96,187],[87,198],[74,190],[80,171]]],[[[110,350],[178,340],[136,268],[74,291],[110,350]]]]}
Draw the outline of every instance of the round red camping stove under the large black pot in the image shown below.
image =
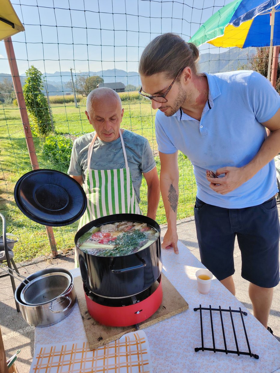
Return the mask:
{"type": "Polygon", "coordinates": [[[161,275],[146,290],[124,298],[108,298],[94,294],[84,285],[85,300],[91,317],[103,325],[136,325],[152,316],[162,302],[161,275]]]}

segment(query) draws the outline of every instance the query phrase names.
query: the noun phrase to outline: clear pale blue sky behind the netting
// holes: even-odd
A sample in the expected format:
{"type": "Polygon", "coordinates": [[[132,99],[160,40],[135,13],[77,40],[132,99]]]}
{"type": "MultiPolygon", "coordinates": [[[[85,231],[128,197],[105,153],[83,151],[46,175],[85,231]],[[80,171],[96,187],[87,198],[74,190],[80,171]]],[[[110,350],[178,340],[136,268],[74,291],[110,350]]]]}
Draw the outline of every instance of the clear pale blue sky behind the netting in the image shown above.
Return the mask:
{"type": "MultiPolygon", "coordinates": [[[[230,0],[13,0],[25,32],[12,37],[19,73],[137,71],[143,48],[159,34],[186,41],[230,0]]],[[[218,52],[205,44],[200,51],[218,52]]],[[[224,51],[225,48],[220,48],[224,51]]],[[[0,41],[0,73],[10,73],[0,41]]]]}

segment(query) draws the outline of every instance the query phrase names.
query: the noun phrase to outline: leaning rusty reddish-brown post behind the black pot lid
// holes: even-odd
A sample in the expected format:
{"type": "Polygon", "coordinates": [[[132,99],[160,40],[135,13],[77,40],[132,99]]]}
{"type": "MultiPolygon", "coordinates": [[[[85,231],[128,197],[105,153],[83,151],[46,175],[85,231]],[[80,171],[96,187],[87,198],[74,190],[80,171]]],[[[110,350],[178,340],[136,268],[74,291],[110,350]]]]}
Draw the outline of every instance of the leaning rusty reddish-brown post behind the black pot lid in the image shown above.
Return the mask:
{"type": "MultiPolygon", "coordinates": [[[[4,44],[7,52],[7,57],[10,65],[13,86],[15,88],[16,100],[18,101],[19,113],[21,115],[22,124],[24,127],[25,140],[27,143],[27,149],[29,153],[29,158],[32,166],[32,170],[39,169],[38,159],[36,155],[36,150],[33,142],[33,137],[31,133],[31,128],[29,124],[29,119],[27,115],[27,109],[24,100],[24,94],[21,86],[21,78],[18,72],[18,65],[16,63],[15,51],[13,49],[12,39],[9,37],[4,39],[4,44]]],[[[53,234],[53,227],[46,226],[47,236],[49,239],[50,248],[52,250],[52,255],[57,256],[57,248],[55,242],[55,236],[53,234]]]]}

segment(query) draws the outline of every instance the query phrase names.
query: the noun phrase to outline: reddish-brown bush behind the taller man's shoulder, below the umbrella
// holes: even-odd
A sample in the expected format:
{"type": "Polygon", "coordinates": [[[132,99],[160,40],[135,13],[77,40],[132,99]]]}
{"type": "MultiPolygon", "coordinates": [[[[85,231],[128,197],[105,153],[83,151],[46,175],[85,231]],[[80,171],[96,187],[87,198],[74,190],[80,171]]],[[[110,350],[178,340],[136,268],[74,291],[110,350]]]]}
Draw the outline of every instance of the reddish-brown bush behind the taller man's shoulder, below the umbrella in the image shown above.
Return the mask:
{"type": "MultiPolygon", "coordinates": [[[[240,70],[245,70],[245,69],[255,70],[256,72],[259,72],[261,75],[267,78],[268,59],[269,59],[269,48],[268,47],[257,48],[256,54],[253,54],[251,56],[251,62],[249,62],[248,66],[241,65],[239,69],[240,70]]],[[[270,68],[272,69],[272,61],[271,61],[270,68]]],[[[280,63],[278,63],[278,67],[277,67],[276,91],[280,93],[280,63]]]]}

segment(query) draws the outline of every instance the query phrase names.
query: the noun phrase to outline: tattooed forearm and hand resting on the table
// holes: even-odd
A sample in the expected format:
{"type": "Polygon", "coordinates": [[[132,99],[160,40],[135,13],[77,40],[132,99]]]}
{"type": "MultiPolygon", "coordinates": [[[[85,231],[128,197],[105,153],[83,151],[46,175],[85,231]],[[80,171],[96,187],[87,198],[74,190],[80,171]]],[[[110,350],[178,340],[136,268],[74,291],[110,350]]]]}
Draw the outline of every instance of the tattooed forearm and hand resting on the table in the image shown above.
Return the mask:
{"type": "Polygon", "coordinates": [[[162,242],[162,248],[173,247],[174,253],[178,254],[177,235],[177,206],[179,198],[179,170],[178,151],[172,154],[159,152],[161,160],[160,187],[167,217],[167,232],[162,242]]]}

